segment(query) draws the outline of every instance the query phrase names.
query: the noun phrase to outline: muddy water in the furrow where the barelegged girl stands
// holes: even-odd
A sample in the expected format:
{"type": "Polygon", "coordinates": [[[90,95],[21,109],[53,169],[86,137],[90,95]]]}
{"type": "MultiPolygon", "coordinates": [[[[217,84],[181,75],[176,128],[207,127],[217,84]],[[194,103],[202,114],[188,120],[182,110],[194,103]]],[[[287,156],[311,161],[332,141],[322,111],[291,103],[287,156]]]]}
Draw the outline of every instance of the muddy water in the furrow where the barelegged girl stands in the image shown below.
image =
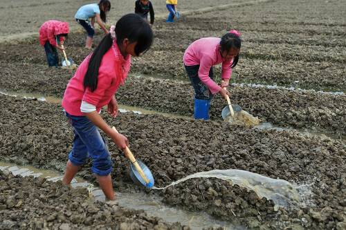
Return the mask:
{"type": "MultiPolygon", "coordinates": [[[[40,170],[33,166],[17,166],[14,163],[0,161],[0,170],[9,170],[13,175],[22,177],[44,177],[47,181],[57,182],[64,177],[61,173],[52,170],[40,170]]],[[[71,182],[73,188],[84,187],[89,190],[96,200],[105,202],[104,193],[98,187],[93,186],[90,182],[80,177],[75,177],[71,182]]],[[[189,225],[190,229],[203,229],[206,227],[227,227],[230,229],[246,229],[243,226],[235,226],[227,221],[217,220],[203,212],[184,211],[182,209],[172,208],[164,205],[160,197],[149,196],[145,193],[115,193],[118,204],[122,207],[136,210],[145,210],[148,215],[163,218],[166,222],[180,222],[189,225]]]]}

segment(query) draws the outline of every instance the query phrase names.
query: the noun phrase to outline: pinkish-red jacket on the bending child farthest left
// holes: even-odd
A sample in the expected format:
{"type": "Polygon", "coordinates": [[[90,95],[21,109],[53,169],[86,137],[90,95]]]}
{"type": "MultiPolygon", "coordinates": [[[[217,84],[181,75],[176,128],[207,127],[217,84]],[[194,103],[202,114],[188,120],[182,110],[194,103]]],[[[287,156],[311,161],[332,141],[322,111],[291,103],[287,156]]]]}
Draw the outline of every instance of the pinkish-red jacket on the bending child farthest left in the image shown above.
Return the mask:
{"type": "MultiPolygon", "coordinates": [[[[69,24],[65,21],[46,21],[41,28],[39,28],[39,42],[44,46],[47,40],[53,46],[57,46],[57,41],[55,40],[56,35],[61,35],[64,33],[70,33],[69,24]]],[[[60,37],[59,41],[64,41],[65,37],[60,37]]]]}

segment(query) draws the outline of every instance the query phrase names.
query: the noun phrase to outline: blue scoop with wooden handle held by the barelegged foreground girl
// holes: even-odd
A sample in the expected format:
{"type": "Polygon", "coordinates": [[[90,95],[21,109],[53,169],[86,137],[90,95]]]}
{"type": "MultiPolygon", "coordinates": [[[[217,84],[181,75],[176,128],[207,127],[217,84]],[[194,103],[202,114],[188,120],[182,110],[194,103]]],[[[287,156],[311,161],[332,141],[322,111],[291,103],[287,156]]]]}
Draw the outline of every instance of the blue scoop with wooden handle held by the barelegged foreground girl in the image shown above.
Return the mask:
{"type": "MultiPolygon", "coordinates": [[[[114,131],[118,133],[118,130],[116,130],[116,127],[112,127],[114,131]]],[[[126,146],[126,152],[129,156],[129,159],[131,161],[131,168],[130,168],[130,177],[137,185],[144,185],[148,188],[152,188],[154,186],[154,177],[152,176],[152,172],[150,172],[149,168],[145,166],[144,163],[140,161],[136,161],[134,158],[134,155],[129,150],[129,148],[126,146]]]]}

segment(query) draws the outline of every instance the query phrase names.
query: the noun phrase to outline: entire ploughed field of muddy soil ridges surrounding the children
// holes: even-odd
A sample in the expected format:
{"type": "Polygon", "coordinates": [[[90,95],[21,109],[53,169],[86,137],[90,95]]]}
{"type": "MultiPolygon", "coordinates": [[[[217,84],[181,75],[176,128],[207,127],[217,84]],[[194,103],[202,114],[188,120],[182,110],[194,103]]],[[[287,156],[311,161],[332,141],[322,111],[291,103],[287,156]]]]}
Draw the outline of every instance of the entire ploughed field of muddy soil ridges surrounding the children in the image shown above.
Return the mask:
{"type": "MultiPolygon", "coordinates": [[[[134,8],[119,2],[111,1],[109,24],[134,8]]],[[[340,94],[346,89],[345,1],[234,1],[230,6],[221,0],[179,0],[181,18],[174,24],[166,24],[165,7],[152,2],[158,16],[154,45],[132,59],[131,76],[116,93],[118,103],[193,117],[194,91],[182,62],[185,49],[195,39],[221,37],[237,29],[242,49],[232,81],[279,87],[233,85],[231,101],[263,123],[284,129],[225,123],[221,110],[226,102],[219,95],[212,100],[210,121],[133,112],[113,119],[102,113],[109,125],[127,136],[131,151],[152,171],[155,186],[194,172],[234,168],[284,179],[298,188],[309,185],[311,193],[302,194],[300,204],[274,211],[271,200],[221,179],[190,179],[163,191],[138,187],[128,175],[128,159],[104,136],[113,160],[114,189],[145,191],[170,206],[203,211],[249,229],[346,229],[346,96],[340,94]]],[[[73,21],[73,8],[82,4],[64,2],[54,18],[71,25],[65,46],[76,64],[89,54],[86,36],[73,21]]],[[[75,71],[48,69],[37,36],[24,37],[14,27],[3,26],[14,17],[12,12],[31,12],[25,15],[30,22],[22,32],[37,33],[52,19],[47,9],[53,7],[57,5],[44,0],[16,6],[0,3],[1,15],[8,15],[1,18],[0,29],[2,91],[62,98],[75,71]]],[[[102,36],[98,31],[93,44],[102,36]]],[[[218,81],[219,71],[215,68],[218,81]]],[[[61,105],[6,95],[0,100],[0,161],[64,172],[73,132],[61,105]]],[[[78,175],[97,184],[91,165],[78,175]]],[[[0,172],[0,179],[0,229],[188,229],[116,203],[86,199],[85,189],[60,182],[8,172],[0,172]]]]}

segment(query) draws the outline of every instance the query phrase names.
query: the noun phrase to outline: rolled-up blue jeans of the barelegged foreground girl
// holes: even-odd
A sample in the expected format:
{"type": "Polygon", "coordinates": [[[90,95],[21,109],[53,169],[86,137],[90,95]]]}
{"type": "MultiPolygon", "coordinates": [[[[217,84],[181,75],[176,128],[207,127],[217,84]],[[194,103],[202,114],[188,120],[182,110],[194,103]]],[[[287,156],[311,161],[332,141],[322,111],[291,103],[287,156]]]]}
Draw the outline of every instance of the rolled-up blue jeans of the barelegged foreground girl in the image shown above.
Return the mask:
{"type": "Polygon", "coordinates": [[[69,160],[75,166],[82,166],[90,157],[93,158],[91,170],[99,176],[107,176],[111,172],[111,157],[106,141],[102,138],[98,127],[86,116],[72,116],[64,112],[73,127],[73,150],[69,160]]]}

